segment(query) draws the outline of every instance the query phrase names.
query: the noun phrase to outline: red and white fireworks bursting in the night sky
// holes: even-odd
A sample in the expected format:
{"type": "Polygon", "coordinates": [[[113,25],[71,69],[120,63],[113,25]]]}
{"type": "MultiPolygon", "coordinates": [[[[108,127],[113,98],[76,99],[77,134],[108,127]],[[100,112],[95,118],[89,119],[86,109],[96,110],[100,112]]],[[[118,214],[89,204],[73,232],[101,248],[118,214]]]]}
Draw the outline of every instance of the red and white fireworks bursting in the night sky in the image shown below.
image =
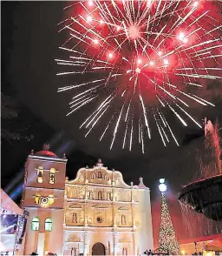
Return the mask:
{"type": "Polygon", "coordinates": [[[181,125],[201,128],[188,110],[194,104],[213,106],[201,91],[208,80],[221,78],[222,25],[215,9],[211,1],[69,4],[69,17],[58,24],[59,32],[66,32],[60,47],[65,57],[55,59],[64,68],[57,76],[74,81],[58,89],[73,93],[67,115],[91,104],[95,109],[80,127],[87,137],[99,126],[100,140],[111,132],[110,149],[119,136],[129,150],[139,138],[145,152],[154,130],[163,145],[171,139],[179,145],[169,111],[181,125]]]}

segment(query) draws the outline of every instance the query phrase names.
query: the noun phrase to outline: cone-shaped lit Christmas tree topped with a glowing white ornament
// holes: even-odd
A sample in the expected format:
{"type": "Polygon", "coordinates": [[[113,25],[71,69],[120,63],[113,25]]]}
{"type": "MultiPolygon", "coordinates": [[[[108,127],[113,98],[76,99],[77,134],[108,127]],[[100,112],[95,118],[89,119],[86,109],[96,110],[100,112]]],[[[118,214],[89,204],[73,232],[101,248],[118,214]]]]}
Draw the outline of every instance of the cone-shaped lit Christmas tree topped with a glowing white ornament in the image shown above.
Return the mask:
{"type": "Polygon", "coordinates": [[[159,253],[169,253],[174,255],[180,255],[180,245],[176,238],[175,231],[173,229],[173,223],[170,216],[170,211],[167,206],[167,199],[165,192],[167,191],[167,185],[165,185],[165,179],[160,179],[159,189],[161,196],[161,219],[160,219],[160,235],[159,235],[159,253]]]}

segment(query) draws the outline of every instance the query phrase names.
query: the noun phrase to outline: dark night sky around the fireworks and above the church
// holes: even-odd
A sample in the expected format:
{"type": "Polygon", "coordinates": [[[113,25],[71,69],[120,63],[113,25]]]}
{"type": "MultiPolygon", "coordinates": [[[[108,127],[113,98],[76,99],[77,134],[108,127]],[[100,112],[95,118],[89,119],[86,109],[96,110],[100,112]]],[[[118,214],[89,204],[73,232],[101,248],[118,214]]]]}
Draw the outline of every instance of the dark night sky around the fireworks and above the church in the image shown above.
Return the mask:
{"type": "MultiPolygon", "coordinates": [[[[48,141],[51,151],[62,156],[67,154],[67,176],[74,179],[82,166],[93,166],[101,158],[109,169],[121,171],[127,183],[138,184],[140,176],[151,188],[153,205],[158,205],[158,180],[167,179],[167,197],[174,212],[180,212],[177,193],[198,176],[199,163],[196,152],[202,147],[204,133],[197,126],[183,128],[174,119],[174,131],[180,140],[180,147],[173,143],[164,147],[160,138],[147,142],[146,154],[133,147],[132,152],[121,150],[118,144],[109,151],[110,138],[98,141],[99,131],[88,138],[78,127],[87,113],[82,110],[66,117],[69,111],[69,93],[58,94],[62,79],[55,76],[59,67],[55,58],[62,53],[58,46],[62,39],[56,24],[62,21],[65,2],[1,2],[2,5],[2,91],[19,102],[18,120],[11,122],[11,129],[17,125],[29,124],[26,132],[34,135],[31,142],[2,142],[2,187],[13,193],[23,182],[23,165],[31,151],[38,151],[48,141]],[[10,186],[9,186],[10,185],[10,186]]],[[[216,107],[193,110],[195,118],[207,117],[222,123],[222,90],[219,82],[209,84],[203,91],[216,107]]],[[[154,206],[153,206],[154,207],[154,206]]],[[[154,208],[153,208],[154,209],[154,208]]],[[[180,223],[180,217],[178,217],[180,223]]]]}

